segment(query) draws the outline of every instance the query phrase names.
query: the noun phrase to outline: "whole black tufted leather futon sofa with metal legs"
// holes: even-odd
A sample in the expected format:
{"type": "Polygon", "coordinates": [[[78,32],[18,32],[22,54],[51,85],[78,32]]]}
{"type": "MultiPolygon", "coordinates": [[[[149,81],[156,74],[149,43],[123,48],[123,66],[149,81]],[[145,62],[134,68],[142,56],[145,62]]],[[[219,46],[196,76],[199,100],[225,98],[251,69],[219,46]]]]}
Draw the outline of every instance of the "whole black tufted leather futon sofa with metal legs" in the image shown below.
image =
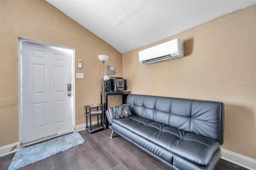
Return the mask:
{"type": "Polygon", "coordinates": [[[132,116],[109,128],[174,170],[216,169],[224,142],[224,103],[129,94],[132,116]]]}

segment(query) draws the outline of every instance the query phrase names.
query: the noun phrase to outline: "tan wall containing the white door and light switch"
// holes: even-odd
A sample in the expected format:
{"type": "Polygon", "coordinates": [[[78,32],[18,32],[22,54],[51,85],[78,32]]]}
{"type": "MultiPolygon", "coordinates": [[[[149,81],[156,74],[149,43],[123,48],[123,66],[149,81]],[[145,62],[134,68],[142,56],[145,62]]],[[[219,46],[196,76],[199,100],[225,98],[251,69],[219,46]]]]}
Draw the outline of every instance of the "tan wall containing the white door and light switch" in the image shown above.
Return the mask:
{"type": "Polygon", "coordinates": [[[100,103],[102,63],[99,54],[109,56],[122,77],[122,54],[74,20],[39,1],[0,1],[0,146],[18,142],[18,37],[75,48],[76,125],[85,123],[84,105],[100,103]],[[78,60],[82,69],[78,69],[78,60]]]}

